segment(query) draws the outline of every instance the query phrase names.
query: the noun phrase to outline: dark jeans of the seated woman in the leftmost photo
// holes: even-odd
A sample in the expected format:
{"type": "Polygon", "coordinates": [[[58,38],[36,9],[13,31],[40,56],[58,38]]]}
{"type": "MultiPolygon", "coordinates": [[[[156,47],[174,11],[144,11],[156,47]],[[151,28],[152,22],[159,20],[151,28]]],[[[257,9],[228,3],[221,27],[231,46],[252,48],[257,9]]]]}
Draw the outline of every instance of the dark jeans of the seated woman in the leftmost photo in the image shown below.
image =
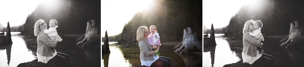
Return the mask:
{"type": "Polygon", "coordinates": [[[55,59],[57,59],[56,63],[60,63],[63,67],[70,67],[69,55],[57,52],[55,59]]]}

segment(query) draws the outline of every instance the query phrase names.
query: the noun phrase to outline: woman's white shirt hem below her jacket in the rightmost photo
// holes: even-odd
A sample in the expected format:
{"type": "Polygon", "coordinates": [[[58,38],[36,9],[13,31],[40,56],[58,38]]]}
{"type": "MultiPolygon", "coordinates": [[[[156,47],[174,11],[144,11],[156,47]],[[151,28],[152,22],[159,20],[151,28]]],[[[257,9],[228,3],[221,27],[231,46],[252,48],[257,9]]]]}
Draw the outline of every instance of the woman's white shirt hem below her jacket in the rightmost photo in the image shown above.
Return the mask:
{"type": "Polygon", "coordinates": [[[259,59],[262,56],[262,54],[259,54],[259,51],[257,50],[257,57],[252,57],[250,55],[245,54],[244,52],[242,52],[242,58],[243,58],[243,63],[247,62],[249,64],[252,64],[253,62],[255,62],[257,59],[259,59]]]}

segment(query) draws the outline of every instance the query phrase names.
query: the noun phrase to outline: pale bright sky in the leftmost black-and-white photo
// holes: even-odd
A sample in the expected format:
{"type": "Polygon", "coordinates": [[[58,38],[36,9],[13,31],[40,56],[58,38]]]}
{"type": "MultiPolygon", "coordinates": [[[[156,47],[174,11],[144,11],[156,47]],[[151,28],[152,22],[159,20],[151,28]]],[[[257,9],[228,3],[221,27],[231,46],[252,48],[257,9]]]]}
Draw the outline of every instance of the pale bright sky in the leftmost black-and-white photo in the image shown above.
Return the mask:
{"type": "Polygon", "coordinates": [[[0,0],[0,24],[18,26],[25,23],[27,16],[45,0],[0,0]]]}

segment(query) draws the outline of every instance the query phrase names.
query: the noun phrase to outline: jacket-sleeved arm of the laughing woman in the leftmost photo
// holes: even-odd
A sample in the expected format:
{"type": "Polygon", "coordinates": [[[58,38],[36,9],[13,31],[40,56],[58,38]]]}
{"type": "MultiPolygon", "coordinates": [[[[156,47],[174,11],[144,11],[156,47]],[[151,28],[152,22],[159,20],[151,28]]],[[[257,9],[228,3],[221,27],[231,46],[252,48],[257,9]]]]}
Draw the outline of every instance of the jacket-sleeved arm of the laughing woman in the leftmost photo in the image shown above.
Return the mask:
{"type": "Polygon", "coordinates": [[[58,41],[51,41],[49,37],[47,37],[46,34],[40,34],[39,36],[40,41],[45,43],[47,46],[55,47],[58,43],[58,41]]]}

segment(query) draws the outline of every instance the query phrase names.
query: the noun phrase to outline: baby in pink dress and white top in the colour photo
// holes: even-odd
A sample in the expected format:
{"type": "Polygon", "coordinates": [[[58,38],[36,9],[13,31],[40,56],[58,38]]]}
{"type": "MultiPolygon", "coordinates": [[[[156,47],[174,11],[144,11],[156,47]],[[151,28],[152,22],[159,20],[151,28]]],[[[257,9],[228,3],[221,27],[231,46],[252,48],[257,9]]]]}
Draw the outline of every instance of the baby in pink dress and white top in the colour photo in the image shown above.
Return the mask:
{"type": "MultiPolygon", "coordinates": [[[[161,41],[159,40],[160,37],[159,37],[159,34],[157,33],[156,26],[151,25],[150,32],[151,33],[148,36],[149,44],[152,45],[152,47],[153,46],[158,47],[159,45],[161,45],[161,41]]],[[[153,49],[153,50],[155,50],[155,49],[153,49]]],[[[157,56],[157,53],[155,53],[154,56],[157,56]]]]}

